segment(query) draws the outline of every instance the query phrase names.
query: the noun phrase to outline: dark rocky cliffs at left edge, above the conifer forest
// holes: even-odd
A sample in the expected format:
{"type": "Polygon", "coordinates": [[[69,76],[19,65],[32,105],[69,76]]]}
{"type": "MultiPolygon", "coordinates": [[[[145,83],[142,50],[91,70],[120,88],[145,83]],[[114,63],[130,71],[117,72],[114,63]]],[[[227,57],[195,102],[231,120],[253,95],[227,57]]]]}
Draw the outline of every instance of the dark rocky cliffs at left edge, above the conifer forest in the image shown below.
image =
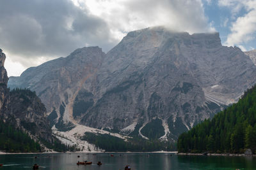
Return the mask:
{"type": "Polygon", "coordinates": [[[35,139],[52,141],[52,130],[47,121],[44,104],[30,90],[10,90],[8,76],[4,69],[6,56],[0,50],[0,118],[14,127],[29,132],[35,139]]]}

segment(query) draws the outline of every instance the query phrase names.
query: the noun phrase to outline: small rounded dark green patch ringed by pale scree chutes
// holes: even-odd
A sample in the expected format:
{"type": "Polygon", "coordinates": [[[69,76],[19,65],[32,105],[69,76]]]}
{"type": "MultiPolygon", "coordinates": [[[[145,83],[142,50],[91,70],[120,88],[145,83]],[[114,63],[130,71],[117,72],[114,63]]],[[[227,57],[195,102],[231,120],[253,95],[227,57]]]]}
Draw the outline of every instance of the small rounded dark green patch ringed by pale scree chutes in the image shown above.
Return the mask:
{"type": "Polygon", "coordinates": [[[152,120],[147,125],[141,129],[141,133],[147,136],[148,139],[158,139],[164,136],[164,127],[162,125],[162,120],[156,118],[152,120]]]}

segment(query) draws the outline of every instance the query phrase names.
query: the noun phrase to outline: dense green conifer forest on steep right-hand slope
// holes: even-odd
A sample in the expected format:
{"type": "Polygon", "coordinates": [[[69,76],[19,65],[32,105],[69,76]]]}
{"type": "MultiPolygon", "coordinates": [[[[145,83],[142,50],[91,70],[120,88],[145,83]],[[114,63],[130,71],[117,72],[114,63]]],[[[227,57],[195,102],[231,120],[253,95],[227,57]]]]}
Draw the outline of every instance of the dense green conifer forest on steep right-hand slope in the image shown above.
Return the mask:
{"type": "Polygon", "coordinates": [[[256,152],[256,86],[238,103],[179,136],[178,152],[256,152]]]}

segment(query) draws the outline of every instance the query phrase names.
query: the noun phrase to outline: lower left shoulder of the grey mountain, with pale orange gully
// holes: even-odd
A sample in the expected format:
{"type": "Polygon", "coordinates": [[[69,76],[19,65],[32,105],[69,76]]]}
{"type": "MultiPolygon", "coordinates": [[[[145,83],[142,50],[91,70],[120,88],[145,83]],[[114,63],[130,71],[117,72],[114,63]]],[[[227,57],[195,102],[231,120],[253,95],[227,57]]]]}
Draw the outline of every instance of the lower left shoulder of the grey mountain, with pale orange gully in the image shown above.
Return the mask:
{"type": "MultiPolygon", "coordinates": [[[[45,62],[38,67],[30,67],[20,77],[11,77],[8,86],[29,88],[45,104],[51,124],[67,129],[72,127],[73,105],[82,89],[92,89],[95,73],[100,67],[105,53],[101,48],[79,48],[68,57],[45,62]]],[[[76,113],[74,114],[76,117],[76,113]]]]}

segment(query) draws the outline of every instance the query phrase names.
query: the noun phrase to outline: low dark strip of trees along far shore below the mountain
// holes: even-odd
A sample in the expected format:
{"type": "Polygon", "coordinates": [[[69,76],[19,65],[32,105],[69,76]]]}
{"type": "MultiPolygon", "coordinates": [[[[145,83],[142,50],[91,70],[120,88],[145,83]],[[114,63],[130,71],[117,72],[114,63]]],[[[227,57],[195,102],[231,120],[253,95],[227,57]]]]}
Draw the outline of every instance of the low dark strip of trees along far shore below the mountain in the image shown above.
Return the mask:
{"type": "Polygon", "coordinates": [[[83,140],[93,143],[97,148],[102,148],[106,152],[152,152],[159,150],[173,151],[175,145],[170,142],[155,140],[145,140],[143,138],[124,139],[111,136],[109,134],[93,134],[86,132],[83,140]]]}

